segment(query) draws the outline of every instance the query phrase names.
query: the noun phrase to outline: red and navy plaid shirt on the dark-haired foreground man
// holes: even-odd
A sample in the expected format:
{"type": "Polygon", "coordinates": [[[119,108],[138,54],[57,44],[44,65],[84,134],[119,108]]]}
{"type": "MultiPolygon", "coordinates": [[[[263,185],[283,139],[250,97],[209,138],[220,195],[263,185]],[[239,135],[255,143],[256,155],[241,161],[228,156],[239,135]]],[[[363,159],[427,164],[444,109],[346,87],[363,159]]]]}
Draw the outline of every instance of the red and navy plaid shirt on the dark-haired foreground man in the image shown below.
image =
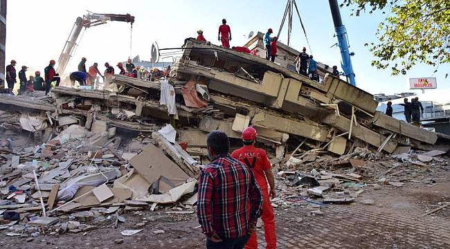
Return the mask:
{"type": "Polygon", "coordinates": [[[207,237],[243,237],[260,216],[262,194],[253,173],[230,154],[220,154],[200,173],[197,216],[207,237]]]}

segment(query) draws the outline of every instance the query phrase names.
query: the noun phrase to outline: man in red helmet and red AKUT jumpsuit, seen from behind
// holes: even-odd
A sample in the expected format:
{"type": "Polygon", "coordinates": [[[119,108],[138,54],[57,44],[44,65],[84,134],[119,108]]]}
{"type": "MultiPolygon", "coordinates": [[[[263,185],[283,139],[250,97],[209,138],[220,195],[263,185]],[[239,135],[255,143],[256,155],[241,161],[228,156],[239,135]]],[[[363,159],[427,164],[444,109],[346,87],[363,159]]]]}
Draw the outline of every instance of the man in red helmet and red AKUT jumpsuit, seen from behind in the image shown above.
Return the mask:
{"type": "MultiPolygon", "coordinates": [[[[256,182],[258,183],[262,192],[262,214],[261,219],[264,222],[264,234],[266,237],[267,248],[276,248],[276,233],[275,233],[275,215],[270,203],[270,197],[275,197],[275,180],[271,171],[271,164],[264,149],[255,147],[256,137],[255,128],[247,127],[242,131],[242,142],[244,146],[233,151],[231,156],[240,160],[253,170],[256,182]],[[269,181],[270,195],[267,188],[267,181],[269,181]]],[[[251,234],[249,241],[245,248],[258,248],[256,240],[256,232],[251,234]]]]}

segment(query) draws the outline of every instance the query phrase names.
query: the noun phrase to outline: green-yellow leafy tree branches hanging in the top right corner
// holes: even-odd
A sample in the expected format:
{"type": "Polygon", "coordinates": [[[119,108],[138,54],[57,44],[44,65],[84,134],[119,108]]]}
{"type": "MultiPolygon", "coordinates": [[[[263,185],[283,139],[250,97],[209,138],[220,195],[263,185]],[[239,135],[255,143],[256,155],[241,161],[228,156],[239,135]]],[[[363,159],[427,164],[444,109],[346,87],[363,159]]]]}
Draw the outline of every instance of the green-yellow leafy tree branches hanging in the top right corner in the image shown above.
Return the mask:
{"type": "Polygon", "coordinates": [[[381,11],[388,15],[378,26],[378,42],[365,44],[377,59],[372,66],[406,74],[425,63],[438,71],[450,62],[449,0],[343,0],[352,15],[381,11]]]}

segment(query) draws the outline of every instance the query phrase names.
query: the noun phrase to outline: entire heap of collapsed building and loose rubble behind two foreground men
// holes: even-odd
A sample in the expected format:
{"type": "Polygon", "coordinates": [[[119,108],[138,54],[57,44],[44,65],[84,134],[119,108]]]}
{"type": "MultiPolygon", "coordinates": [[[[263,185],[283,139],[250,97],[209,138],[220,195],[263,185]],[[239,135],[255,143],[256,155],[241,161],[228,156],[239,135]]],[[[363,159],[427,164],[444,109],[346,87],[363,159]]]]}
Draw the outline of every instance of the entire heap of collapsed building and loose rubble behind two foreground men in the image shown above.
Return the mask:
{"type": "Polygon", "coordinates": [[[70,217],[105,215],[117,226],[124,212],[192,214],[216,129],[235,149],[255,127],[278,172],[275,206],[350,203],[368,184],[399,186],[448,165],[449,136],[376,112],[369,93],[321,76],[187,40],[157,82],[115,75],[108,90],[0,95],[0,229],[83,232],[95,227],[70,217]]]}

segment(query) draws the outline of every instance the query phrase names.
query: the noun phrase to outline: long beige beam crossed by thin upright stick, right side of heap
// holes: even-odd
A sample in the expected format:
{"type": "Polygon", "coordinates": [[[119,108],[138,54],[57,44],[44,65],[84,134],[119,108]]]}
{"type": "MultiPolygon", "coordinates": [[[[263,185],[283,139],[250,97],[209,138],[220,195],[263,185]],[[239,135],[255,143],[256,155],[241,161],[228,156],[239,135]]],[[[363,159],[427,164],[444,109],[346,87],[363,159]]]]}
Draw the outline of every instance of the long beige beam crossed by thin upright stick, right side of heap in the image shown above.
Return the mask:
{"type": "MultiPolygon", "coordinates": [[[[348,131],[350,128],[350,119],[345,118],[344,116],[336,116],[335,114],[330,114],[323,118],[322,122],[325,124],[330,124],[332,127],[336,127],[341,131],[348,131]]],[[[381,144],[386,140],[386,136],[383,136],[371,129],[363,127],[361,124],[358,126],[352,126],[352,137],[358,138],[367,142],[370,145],[375,147],[380,147],[381,144]]],[[[397,142],[393,140],[389,140],[384,146],[384,150],[389,153],[393,153],[397,148],[397,142]]]]}

